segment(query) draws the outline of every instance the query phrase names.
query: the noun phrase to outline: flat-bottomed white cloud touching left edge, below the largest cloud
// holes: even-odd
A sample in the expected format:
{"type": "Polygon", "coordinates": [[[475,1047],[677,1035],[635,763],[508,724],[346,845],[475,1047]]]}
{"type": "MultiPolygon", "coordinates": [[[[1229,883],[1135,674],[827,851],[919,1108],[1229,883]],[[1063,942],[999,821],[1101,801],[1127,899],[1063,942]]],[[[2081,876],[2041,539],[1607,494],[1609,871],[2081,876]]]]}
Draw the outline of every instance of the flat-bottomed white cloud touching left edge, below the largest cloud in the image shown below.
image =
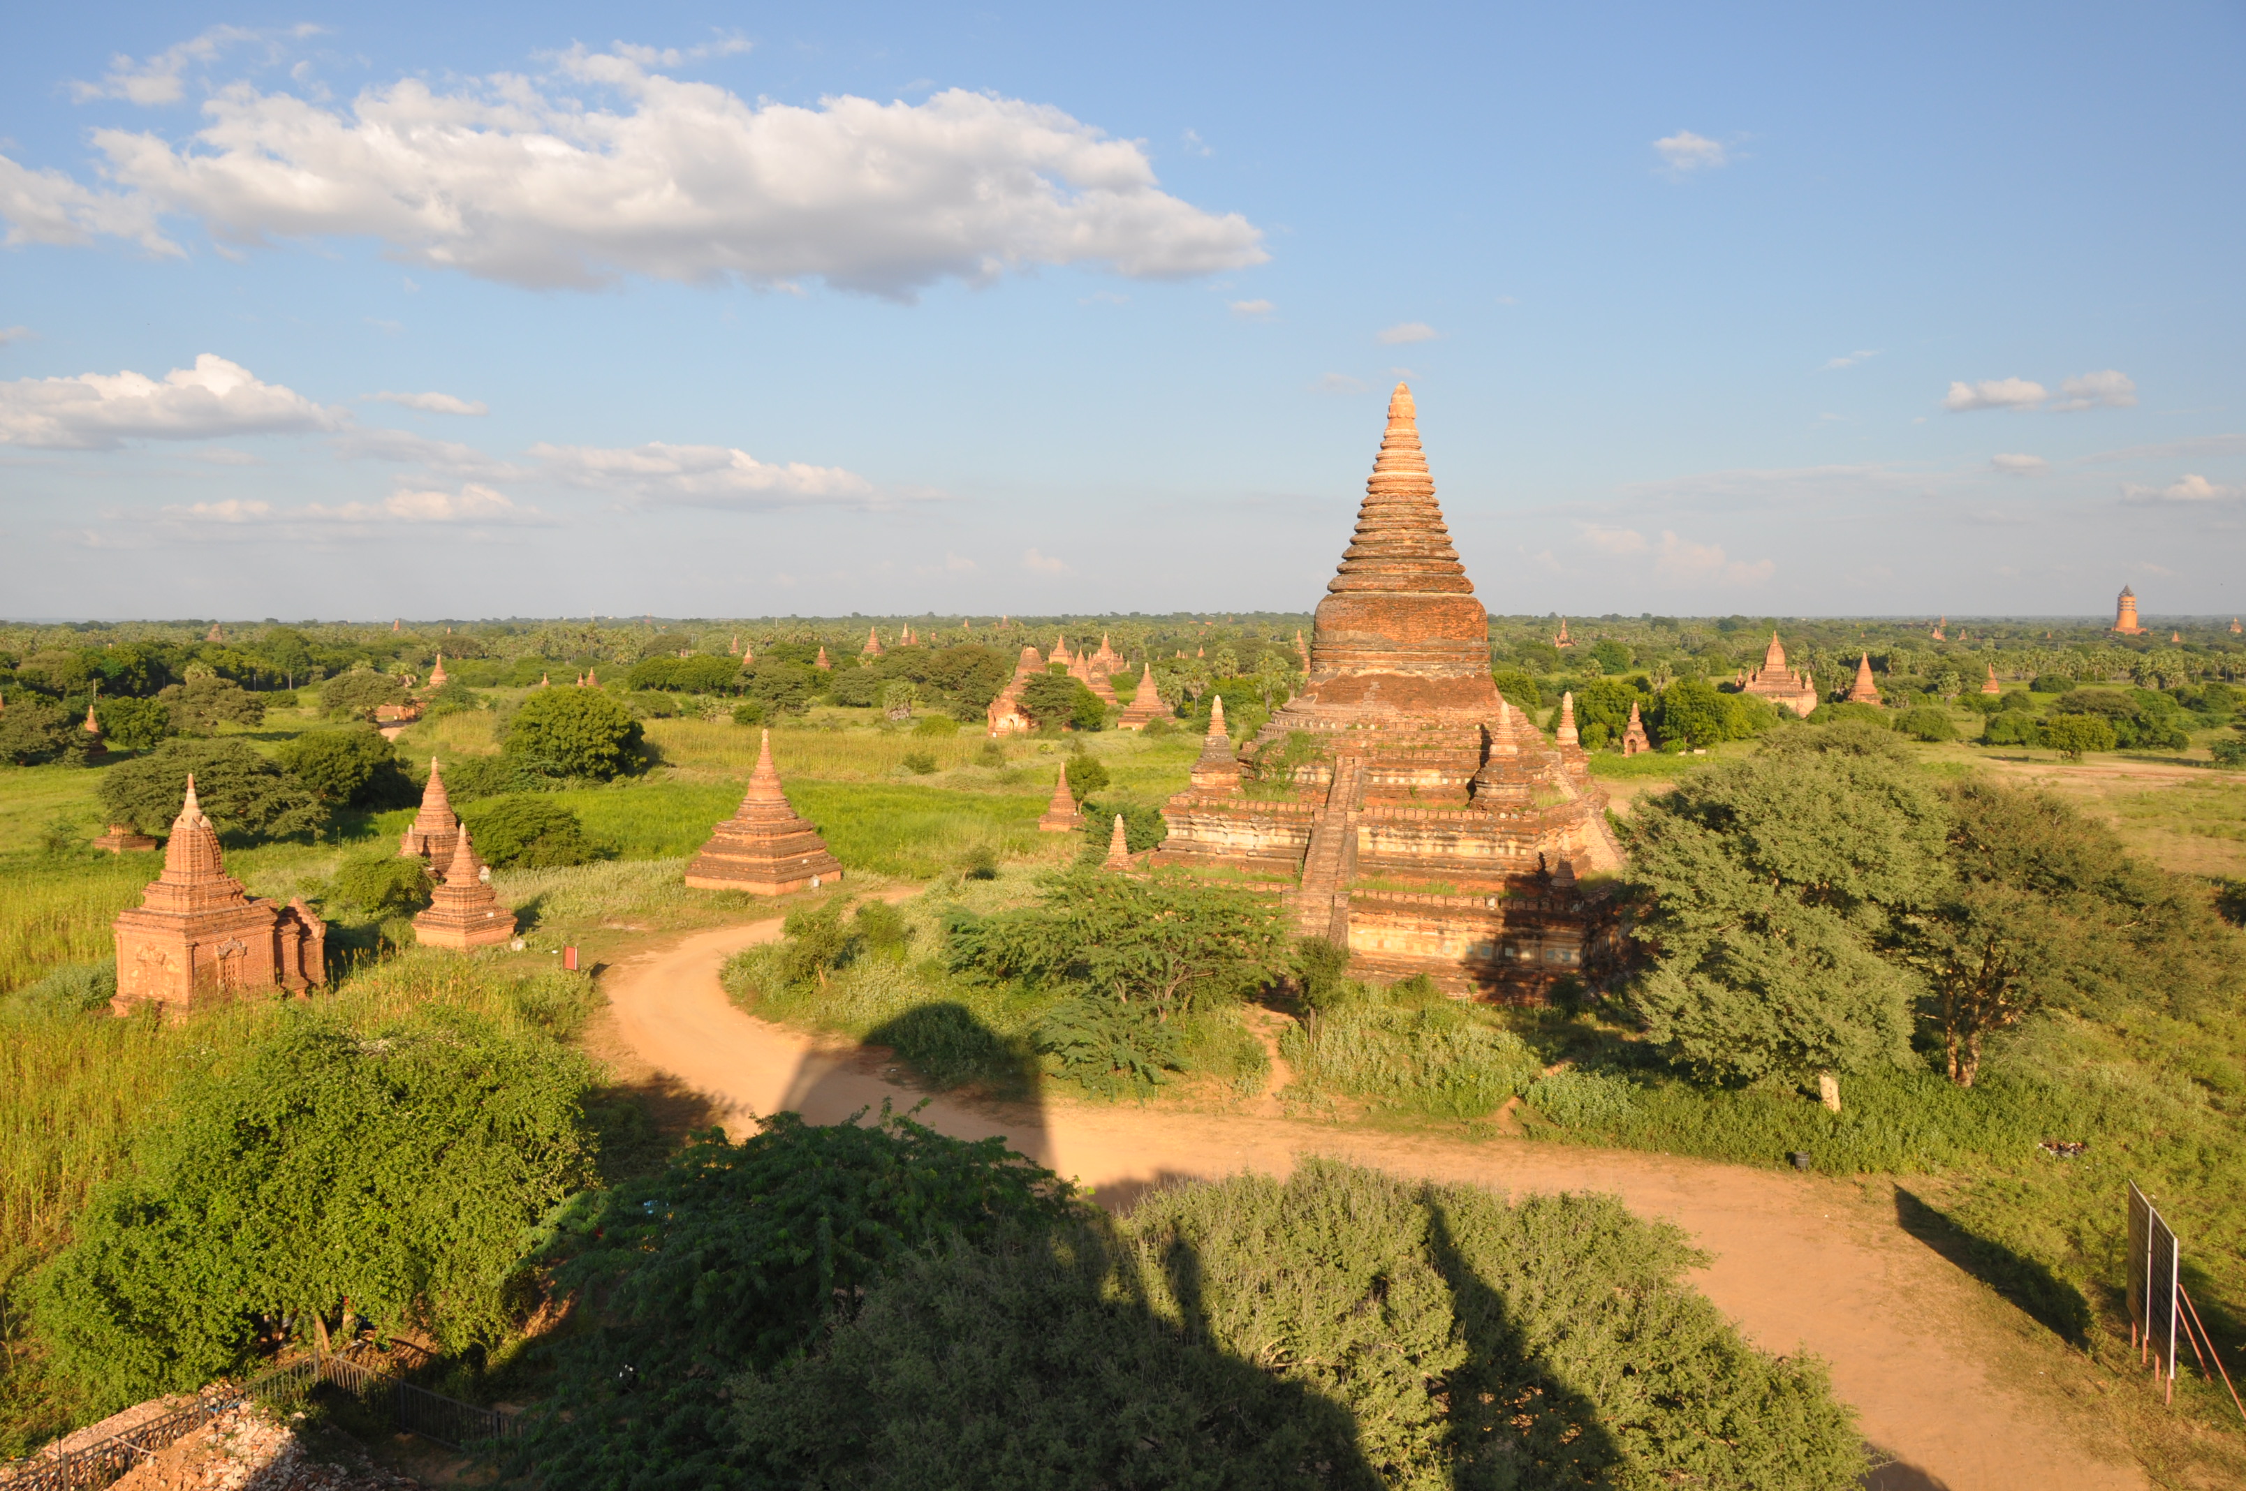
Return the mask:
{"type": "Polygon", "coordinates": [[[115,449],[126,440],[209,440],[335,429],[348,415],[213,353],[164,382],[139,373],[22,377],[0,384],[0,445],[115,449]]]}

